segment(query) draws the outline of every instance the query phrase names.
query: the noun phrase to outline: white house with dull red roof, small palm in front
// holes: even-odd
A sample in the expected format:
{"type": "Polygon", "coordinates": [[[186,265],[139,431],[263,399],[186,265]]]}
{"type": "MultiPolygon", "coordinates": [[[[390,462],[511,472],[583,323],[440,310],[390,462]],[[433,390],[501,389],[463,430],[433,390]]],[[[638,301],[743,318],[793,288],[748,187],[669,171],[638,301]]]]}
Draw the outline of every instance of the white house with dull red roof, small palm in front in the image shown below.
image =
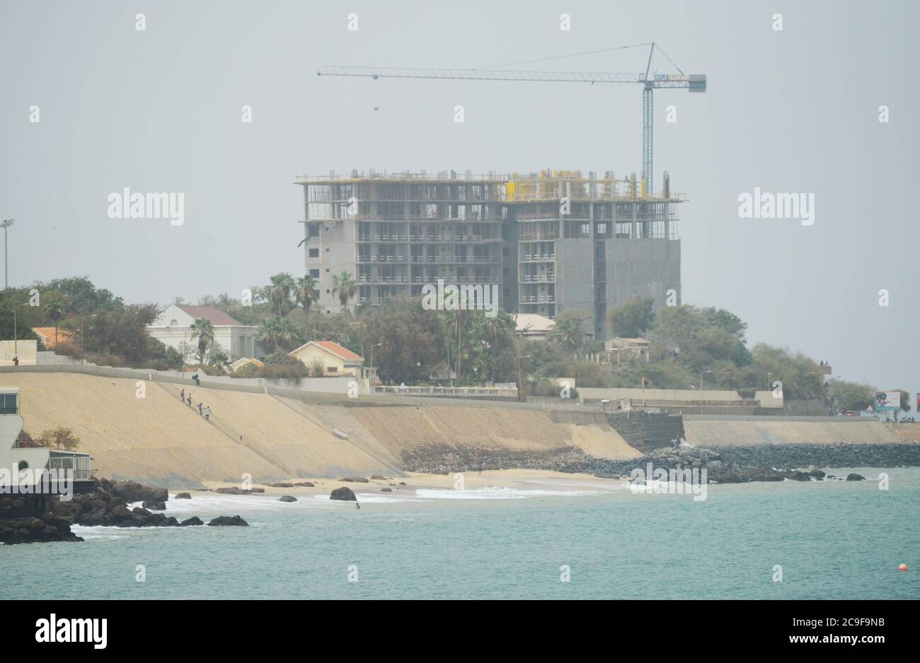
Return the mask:
{"type": "Polygon", "coordinates": [[[213,306],[170,304],[153,324],[147,327],[147,332],[157,341],[176,348],[191,361],[191,355],[198,349],[198,340],[191,338],[191,325],[198,318],[211,320],[214,343],[221,346],[224,353],[230,357],[230,361],[256,355],[256,334],[259,333],[259,327],[240,324],[213,306]]]}

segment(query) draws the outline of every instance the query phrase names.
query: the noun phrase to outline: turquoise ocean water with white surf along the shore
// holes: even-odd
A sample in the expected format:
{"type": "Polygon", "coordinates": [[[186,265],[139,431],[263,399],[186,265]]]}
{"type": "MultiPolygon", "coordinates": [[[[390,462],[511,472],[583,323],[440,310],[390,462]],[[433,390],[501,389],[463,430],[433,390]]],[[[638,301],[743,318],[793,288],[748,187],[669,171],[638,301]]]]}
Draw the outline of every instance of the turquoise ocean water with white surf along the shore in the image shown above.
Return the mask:
{"type": "Polygon", "coordinates": [[[251,526],[76,526],[85,543],[0,545],[0,586],[7,599],[920,598],[920,468],[828,471],[870,480],[713,485],[703,501],[574,478],[351,484],[361,510],[319,496],[170,500],[180,520],[238,513],[251,526]]]}

